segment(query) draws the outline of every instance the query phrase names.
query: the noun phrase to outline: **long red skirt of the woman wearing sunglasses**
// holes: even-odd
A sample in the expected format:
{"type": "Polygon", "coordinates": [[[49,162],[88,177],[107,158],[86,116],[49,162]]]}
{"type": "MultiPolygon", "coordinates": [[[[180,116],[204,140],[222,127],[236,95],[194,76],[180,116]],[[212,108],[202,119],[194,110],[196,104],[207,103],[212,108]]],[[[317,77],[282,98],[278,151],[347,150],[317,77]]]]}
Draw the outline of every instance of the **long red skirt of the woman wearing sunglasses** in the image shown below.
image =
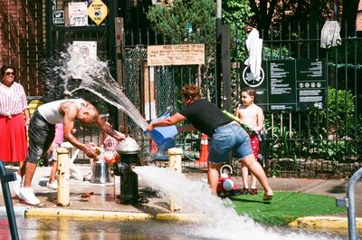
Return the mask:
{"type": "Polygon", "coordinates": [[[19,162],[26,158],[28,144],[23,113],[9,119],[0,116],[0,160],[19,162]]]}

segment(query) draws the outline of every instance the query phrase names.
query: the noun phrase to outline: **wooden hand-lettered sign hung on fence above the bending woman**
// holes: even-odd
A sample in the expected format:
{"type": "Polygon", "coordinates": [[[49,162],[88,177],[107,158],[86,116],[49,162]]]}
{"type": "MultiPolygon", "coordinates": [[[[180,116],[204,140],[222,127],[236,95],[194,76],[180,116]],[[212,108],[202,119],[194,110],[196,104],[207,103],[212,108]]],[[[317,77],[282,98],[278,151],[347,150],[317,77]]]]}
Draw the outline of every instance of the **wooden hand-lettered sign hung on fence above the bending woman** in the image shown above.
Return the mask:
{"type": "Polygon", "coordinates": [[[148,66],[205,64],[205,44],[148,46],[148,66]]]}

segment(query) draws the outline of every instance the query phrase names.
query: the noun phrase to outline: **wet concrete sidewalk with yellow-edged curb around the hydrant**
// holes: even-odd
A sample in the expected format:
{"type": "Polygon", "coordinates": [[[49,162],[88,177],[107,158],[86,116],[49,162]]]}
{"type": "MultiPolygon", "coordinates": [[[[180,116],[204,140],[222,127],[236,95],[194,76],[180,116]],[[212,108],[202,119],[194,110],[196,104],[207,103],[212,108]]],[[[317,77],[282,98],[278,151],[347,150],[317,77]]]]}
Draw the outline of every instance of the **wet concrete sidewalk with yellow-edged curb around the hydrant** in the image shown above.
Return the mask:
{"type": "MultiPolygon", "coordinates": [[[[90,178],[89,165],[77,165],[84,177],[90,178]]],[[[12,172],[15,168],[6,167],[6,171],[12,172]]],[[[149,203],[138,206],[121,205],[119,199],[119,178],[116,183],[93,184],[89,181],[75,180],[71,178],[70,206],[57,206],[57,191],[46,187],[49,178],[50,167],[36,168],[33,178],[33,189],[40,198],[41,206],[27,206],[18,199],[13,198],[16,215],[25,216],[77,216],[102,219],[119,220],[190,220],[187,213],[170,212],[167,199],[157,197],[148,187],[144,187],[142,180],[138,181],[139,194],[148,197],[149,203]]],[[[206,174],[187,174],[187,178],[206,178],[206,174]]],[[[240,182],[240,178],[234,178],[240,182]]],[[[303,193],[326,195],[330,197],[346,197],[347,180],[324,180],[305,178],[269,178],[274,191],[298,191],[303,193]]],[[[356,188],[357,228],[362,228],[359,217],[362,216],[362,184],[356,188]]],[[[3,195],[1,191],[0,195],[3,195]]],[[[14,196],[14,193],[12,192],[14,196]]],[[[4,197],[0,197],[0,211],[5,211],[4,197]]],[[[347,214],[343,216],[314,216],[296,220],[294,226],[320,226],[320,227],[348,227],[347,214]],[[317,221],[317,222],[316,222],[317,221]],[[335,223],[335,224],[333,224],[335,223]],[[326,226],[323,226],[326,225],[326,226]],[[334,226],[336,225],[336,226],[334,226]]]]}

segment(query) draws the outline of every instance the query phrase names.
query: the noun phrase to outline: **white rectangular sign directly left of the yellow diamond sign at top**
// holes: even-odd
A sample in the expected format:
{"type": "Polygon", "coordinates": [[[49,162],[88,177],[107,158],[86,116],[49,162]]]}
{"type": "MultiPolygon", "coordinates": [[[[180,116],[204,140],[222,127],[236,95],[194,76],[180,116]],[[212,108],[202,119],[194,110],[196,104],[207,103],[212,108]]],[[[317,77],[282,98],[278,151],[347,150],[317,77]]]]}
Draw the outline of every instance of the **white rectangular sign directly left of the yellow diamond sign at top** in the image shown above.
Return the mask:
{"type": "Polygon", "coordinates": [[[69,18],[72,26],[87,26],[87,2],[69,3],[69,18]]]}

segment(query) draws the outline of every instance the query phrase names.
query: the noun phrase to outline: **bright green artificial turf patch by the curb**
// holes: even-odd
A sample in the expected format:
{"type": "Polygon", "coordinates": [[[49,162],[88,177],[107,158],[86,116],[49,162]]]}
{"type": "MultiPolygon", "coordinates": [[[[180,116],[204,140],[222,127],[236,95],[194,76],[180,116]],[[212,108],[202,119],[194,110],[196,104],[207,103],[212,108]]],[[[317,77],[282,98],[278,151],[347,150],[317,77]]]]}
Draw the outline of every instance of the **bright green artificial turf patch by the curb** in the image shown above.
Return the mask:
{"type": "Polygon", "coordinates": [[[315,194],[275,191],[271,202],[257,196],[229,197],[239,215],[248,215],[263,225],[283,226],[301,216],[333,216],[347,212],[346,207],[336,206],[336,198],[315,194]]]}

